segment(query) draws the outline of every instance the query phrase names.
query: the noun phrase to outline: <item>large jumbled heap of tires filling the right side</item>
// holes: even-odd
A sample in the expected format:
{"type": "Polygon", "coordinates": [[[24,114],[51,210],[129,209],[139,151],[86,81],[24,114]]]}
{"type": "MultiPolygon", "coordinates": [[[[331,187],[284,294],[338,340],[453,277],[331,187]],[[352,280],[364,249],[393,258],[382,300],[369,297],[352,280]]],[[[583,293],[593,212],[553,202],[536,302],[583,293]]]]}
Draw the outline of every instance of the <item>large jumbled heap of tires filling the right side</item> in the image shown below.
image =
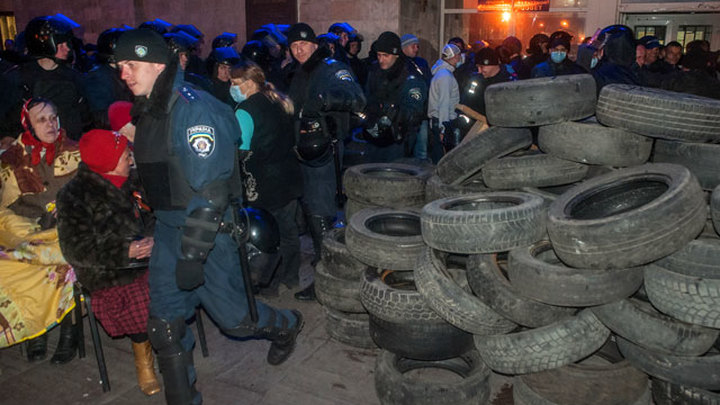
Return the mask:
{"type": "Polygon", "coordinates": [[[610,85],[596,113],[595,94],[589,75],[488,88],[495,126],[428,182],[417,288],[516,376],[517,404],[649,404],[638,370],[657,404],[720,403],[720,191],[708,209],[701,188],[720,183],[720,102],[610,85]],[[654,143],[670,163],[646,164],[654,143]]]}

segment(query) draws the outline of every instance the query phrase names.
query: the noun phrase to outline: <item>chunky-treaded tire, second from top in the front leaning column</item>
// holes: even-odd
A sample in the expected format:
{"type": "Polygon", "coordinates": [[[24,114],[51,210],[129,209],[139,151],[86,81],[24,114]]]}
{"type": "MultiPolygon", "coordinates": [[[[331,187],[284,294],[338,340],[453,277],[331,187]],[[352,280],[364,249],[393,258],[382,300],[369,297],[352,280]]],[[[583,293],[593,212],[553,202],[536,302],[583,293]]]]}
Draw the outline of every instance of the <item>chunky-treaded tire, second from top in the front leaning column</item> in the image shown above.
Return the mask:
{"type": "Polygon", "coordinates": [[[415,289],[412,271],[365,270],[360,300],[368,313],[386,321],[441,320],[415,289]]]}

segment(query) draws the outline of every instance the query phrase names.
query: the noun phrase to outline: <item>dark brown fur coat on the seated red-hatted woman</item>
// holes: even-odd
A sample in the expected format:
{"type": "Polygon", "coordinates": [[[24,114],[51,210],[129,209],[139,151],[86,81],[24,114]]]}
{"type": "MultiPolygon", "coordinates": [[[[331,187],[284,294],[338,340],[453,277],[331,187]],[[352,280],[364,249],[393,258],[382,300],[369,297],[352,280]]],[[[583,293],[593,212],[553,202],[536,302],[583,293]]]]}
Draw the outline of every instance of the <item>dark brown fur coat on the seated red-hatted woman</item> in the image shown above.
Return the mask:
{"type": "Polygon", "coordinates": [[[132,267],[130,243],[152,235],[152,214],[139,210],[134,174],[122,188],[80,164],[57,196],[60,248],[78,280],[90,291],[124,285],[146,271],[132,267]]]}

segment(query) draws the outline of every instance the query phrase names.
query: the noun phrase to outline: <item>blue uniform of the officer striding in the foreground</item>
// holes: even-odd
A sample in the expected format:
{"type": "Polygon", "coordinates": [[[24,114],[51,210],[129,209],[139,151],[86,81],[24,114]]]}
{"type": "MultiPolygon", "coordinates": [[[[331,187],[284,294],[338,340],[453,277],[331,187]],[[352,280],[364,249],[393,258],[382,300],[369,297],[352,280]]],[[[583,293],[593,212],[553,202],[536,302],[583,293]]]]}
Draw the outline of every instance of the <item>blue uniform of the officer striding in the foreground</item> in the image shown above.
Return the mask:
{"type": "MultiPolygon", "coordinates": [[[[203,254],[200,282],[204,283],[189,290],[178,287],[182,276],[176,274],[176,269],[181,271],[178,263],[188,259],[184,246],[187,229],[192,227],[188,218],[200,208],[218,208],[217,201],[228,197],[222,193],[241,195],[240,184],[232,181],[240,140],[240,128],[232,110],[208,93],[191,88],[181,78],[179,72],[169,99],[161,102],[169,115],[154,113],[156,110],[151,107],[138,121],[135,143],[138,174],[157,218],[150,259],[151,321],[185,320],[202,305],[223,330],[245,328],[250,336],[255,329],[282,327],[283,320],[295,319],[290,311],[279,311],[261,302],[257,302],[259,321],[251,324],[238,246],[228,233],[211,236],[213,245],[206,256],[203,254]],[[232,187],[217,187],[218,184],[232,187]],[[218,193],[213,189],[224,191],[218,193]]],[[[223,222],[232,220],[231,210],[227,204],[222,206],[219,212],[223,222]]],[[[150,329],[152,341],[152,323],[150,329]]],[[[192,332],[186,333],[183,327],[177,335],[182,350],[191,353],[192,332]]],[[[153,345],[156,346],[155,341],[153,345]]],[[[164,352],[156,349],[161,362],[164,352]]],[[[174,346],[167,348],[170,349],[178,350],[174,346]]],[[[168,352],[165,354],[170,357],[168,352]]],[[[195,371],[191,361],[185,364],[192,385],[195,371]]],[[[196,394],[193,403],[200,400],[196,394]]]]}

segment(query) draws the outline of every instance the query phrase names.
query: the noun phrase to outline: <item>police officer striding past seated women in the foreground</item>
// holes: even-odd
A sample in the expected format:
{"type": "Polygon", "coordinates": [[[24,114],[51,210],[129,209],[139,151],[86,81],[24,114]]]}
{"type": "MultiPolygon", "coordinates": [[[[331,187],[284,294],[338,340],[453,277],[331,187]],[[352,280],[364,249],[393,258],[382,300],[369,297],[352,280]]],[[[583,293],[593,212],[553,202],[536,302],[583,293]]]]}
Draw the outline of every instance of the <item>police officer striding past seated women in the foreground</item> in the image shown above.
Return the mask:
{"type": "Polygon", "coordinates": [[[156,32],[126,31],[115,56],[136,96],[136,109],[143,111],[135,159],[157,218],[148,334],[158,353],[167,403],[199,404],[194,338],[185,324],[196,306],[202,305],[230,336],[270,339],[270,364],[290,356],[302,316],[257,302],[258,320],[252,322],[238,246],[225,230],[232,223],[230,201],[242,192],[240,129],[230,107],[183,82],[177,58],[156,32]]]}

